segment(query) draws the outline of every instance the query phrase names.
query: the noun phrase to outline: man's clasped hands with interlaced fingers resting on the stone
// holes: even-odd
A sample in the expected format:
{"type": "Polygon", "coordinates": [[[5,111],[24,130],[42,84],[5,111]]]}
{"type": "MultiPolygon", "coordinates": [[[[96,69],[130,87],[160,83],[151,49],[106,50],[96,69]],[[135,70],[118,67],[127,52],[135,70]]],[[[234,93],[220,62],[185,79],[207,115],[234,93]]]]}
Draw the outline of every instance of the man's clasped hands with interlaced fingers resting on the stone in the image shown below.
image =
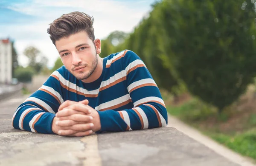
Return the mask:
{"type": "Polygon", "coordinates": [[[99,113],[88,100],[65,101],[52,122],[52,132],[63,136],[86,136],[101,129],[99,113]]]}

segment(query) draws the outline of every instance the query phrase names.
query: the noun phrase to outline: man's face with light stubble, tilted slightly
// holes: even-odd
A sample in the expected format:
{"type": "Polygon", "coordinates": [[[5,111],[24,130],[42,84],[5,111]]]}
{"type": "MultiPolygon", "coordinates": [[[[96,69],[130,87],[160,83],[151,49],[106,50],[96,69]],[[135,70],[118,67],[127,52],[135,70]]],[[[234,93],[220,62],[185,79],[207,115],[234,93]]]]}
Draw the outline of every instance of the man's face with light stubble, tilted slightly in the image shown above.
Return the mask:
{"type": "Polygon", "coordinates": [[[98,64],[98,51],[85,31],[61,38],[55,45],[64,66],[77,79],[87,79],[93,73],[98,64]]]}

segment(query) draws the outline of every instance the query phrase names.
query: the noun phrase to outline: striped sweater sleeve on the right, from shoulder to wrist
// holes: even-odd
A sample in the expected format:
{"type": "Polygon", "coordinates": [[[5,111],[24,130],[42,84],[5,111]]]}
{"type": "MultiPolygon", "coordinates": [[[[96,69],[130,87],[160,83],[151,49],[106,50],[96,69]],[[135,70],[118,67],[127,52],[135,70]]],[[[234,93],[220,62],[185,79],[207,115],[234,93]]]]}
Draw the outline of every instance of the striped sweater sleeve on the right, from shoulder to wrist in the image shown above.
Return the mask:
{"type": "Polygon", "coordinates": [[[127,90],[134,107],[119,111],[98,111],[102,127],[99,132],[166,127],[164,101],[143,61],[133,51],[125,51],[122,63],[127,90]]]}

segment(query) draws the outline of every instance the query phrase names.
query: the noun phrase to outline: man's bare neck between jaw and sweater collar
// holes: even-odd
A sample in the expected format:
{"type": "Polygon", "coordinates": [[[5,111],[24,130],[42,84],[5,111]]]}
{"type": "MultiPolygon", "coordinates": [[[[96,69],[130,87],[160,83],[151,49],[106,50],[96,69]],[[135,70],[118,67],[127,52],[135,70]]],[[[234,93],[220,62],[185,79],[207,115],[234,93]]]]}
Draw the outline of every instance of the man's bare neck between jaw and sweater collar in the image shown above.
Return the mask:
{"type": "Polygon", "coordinates": [[[99,77],[101,76],[102,71],[103,71],[103,58],[99,57],[99,55],[97,55],[97,56],[98,56],[98,64],[97,64],[95,70],[93,71],[92,75],[90,75],[89,78],[82,80],[82,82],[91,83],[91,82],[94,82],[97,79],[99,79],[99,77]]]}

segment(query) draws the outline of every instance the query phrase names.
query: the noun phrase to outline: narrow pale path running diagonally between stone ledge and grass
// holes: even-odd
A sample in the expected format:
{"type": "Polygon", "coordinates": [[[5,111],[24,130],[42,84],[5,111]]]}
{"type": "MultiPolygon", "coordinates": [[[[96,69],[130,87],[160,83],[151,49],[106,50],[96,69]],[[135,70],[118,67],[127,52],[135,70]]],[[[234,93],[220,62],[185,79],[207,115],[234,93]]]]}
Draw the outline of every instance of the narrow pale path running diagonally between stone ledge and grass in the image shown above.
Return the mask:
{"type": "Polygon", "coordinates": [[[239,153],[233,152],[226,146],[223,146],[220,143],[213,141],[211,138],[201,134],[201,132],[199,132],[198,130],[189,127],[187,124],[183,123],[182,121],[178,120],[177,118],[171,115],[168,116],[168,127],[176,128],[180,132],[183,132],[189,137],[204,144],[205,146],[209,147],[219,155],[224,156],[225,158],[229,159],[230,161],[233,161],[234,163],[237,163],[241,166],[256,166],[255,162],[252,161],[251,159],[243,157],[239,153]]]}

